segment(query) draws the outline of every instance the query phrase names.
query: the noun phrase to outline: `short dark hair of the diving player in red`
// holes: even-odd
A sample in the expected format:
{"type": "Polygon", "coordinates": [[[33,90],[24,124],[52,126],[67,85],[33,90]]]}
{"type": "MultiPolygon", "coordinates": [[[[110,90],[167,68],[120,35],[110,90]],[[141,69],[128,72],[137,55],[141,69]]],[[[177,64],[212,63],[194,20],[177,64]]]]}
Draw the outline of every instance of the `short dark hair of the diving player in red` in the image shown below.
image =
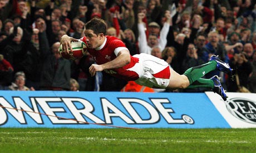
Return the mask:
{"type": "Polygon", "coordinates": [[[93,30],[93,33],[100,34],[103,33],[106,35],[107,33],[107,24],[103,19],[93,18],[85,24],[85,29],[93,30]]]}

